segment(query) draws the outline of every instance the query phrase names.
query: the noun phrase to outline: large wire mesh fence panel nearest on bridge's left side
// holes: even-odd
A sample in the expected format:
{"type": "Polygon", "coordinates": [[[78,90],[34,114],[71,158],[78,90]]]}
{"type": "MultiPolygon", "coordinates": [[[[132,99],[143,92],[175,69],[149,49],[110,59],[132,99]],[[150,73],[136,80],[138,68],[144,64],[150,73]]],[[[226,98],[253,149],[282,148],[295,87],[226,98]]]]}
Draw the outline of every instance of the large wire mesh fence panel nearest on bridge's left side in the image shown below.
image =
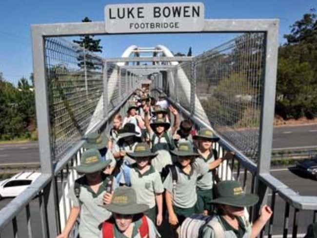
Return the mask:
{"type": "Polygon", "coordinates": [[[77,44],[45,39],[53,158],[62,157],[85,133],[103,92],[102,65],[101,58],[77,44]]]}

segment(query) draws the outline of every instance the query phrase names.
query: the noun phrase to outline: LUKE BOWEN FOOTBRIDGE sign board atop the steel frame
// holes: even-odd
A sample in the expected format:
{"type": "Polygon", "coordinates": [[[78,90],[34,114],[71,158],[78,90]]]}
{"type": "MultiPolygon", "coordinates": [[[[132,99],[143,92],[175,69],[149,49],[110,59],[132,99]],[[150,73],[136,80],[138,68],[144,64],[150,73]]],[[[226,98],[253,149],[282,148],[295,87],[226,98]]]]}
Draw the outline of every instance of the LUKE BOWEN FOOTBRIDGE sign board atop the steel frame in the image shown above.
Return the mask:
{"type": "Polygon", "coordinates": [[[108,33],[192,32],[204,28],[201,2],[106,5],[108,33]]]}

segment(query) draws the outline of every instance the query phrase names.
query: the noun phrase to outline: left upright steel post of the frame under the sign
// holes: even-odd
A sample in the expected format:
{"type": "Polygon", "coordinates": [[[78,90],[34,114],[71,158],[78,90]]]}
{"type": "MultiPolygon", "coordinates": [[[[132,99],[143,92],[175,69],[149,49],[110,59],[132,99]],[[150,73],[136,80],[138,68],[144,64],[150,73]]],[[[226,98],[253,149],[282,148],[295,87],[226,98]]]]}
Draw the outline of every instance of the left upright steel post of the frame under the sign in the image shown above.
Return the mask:
{"type": "MultiPolygon", "coordinates": [[[[33,54],[33,73],[35,84],[35,103],[37,111],[37,123],[39,130],[39,150],[41,173],[51,175],[51,181],[47,184],[44,191],[44,206],[50,216],[47,217],[46,229],[49,238],[58,235],[58,217],[56,208],[56,186],[53,179],[54,167],[51,148],[51,128],[49,118],[49,100],[47,92],[48,82],[46,78],[45,66],[45,40],[42,32],[35,26],[32,27],[32,54],[33,54]]],[[[53,102],[51,102],[53,103],[53,102]]],[[[45,234],[43,234],[45,236],[45,234]]]]}

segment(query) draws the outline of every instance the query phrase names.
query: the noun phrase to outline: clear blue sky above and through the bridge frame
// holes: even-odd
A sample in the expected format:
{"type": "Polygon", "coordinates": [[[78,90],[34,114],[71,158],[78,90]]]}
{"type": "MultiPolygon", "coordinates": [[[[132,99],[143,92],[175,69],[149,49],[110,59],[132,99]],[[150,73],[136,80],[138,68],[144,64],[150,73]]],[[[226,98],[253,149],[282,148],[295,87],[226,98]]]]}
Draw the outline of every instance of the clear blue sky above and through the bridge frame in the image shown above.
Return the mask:
{"type": "MultiPolygon", "coordinates": [[[[32,72],[32,24],[80,22],[89,17],[104,21],[107,4],[192,2],[193,0],[0,0],[0,72],[3,78],[17,85],[20,78],[32,72]]],[[[300,20],[317,0],[200,0],[204,3],[205,19],[279,19],[279,43],[290,25],[300,20]]],[[[120,57],[132,44],[140,47],[167,46],[173,52],[193,55],[212,49],[233,39],[233,34],[144,34],[96,36],[101,39],[102,56],[120,57]]],[[[72,39],[69,39],[72,40],[72,39]]]]}

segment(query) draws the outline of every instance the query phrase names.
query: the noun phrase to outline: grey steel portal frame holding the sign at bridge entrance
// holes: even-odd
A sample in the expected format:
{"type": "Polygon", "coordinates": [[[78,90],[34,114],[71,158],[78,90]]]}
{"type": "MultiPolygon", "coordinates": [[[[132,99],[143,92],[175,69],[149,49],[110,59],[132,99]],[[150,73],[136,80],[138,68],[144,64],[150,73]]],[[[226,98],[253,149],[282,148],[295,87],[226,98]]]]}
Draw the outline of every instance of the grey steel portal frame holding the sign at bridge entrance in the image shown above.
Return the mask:
{"type": "MultiPolygon", "coordinates": [[[[277,74],[277,49],[278,49],[278,20],[205,20],[204,29],[200,33],[246,33],[261,32],[265,34],[265,61],[263,83],[263,105],[261,108],[260,134],[259,134],[259,157],[257,166],[257,193],[260,198],[265,198],[266,185],[261,179],[270,178],[270,160],[273,137],[273,119],[276,91],[277,74]],[[265,133],[264,133],[265,129],[265,133]],[[261,179],[260,179],[261,177],[261,179]]],[[[36,24],[32,25],[32,53],[33,72],[36,91],[37,122],[39,128],[39,147],[41,172],[51,177],[48,193],[46,196],[48,219],[48,236],[55,237],[58,234],[57,213],[55,210],[56,195],[54,184],[54,168],[52,151],[50,146],[49,107],[47,95],[47,82],[45,74],[45,38],[77,35],[107,35],[105,22],[87,23],[59,23],[59,24],[36,24]],[[56,214],[56,216],[53,216],[56,214]]],[[[164,33],[164,32],[162,32],[164,33]]],[[[171,32],[166,32],[171,33],[171,32]]],[[[190,33],[190,32],[176,32],[190,33]]],[[[142,34],[142,33],[136,33],[142,34]]],[[[157,32],[155,33],[157,34],[157,32]]],[[[171,58],[178,61],[177,58],[171,58]]],[[[147,58],[151,61],[151,58],[147,58]]],[[[153,59],[155,60],[155,59],[153,59]]],[[[162,60],[162,59],[160,59],[162,60]]],[[[105,87],[105,86],[104,86],[105,87]]],[[[104,88],[106,91],[106,88],[104,88]]],[[[255,213],[257,214],[257,213],[255,213]]]]}

